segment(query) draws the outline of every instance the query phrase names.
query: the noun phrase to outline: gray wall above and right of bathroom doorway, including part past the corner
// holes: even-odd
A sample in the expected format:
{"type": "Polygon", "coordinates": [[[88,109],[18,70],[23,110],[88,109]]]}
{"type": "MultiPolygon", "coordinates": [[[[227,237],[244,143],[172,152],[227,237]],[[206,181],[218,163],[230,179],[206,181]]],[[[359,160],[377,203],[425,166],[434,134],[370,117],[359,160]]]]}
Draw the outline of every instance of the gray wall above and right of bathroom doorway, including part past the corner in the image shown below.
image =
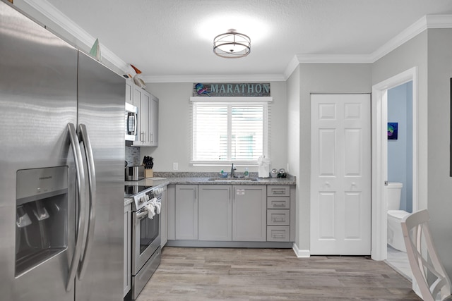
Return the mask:
{"type": "Polygon", "coordinates": [[[429,209],[434,243],[449,276],[452,275],[451,47],[451,29],[429,29],[372,65],[373,85],[417,67],[418,209],[429,209]]]}

